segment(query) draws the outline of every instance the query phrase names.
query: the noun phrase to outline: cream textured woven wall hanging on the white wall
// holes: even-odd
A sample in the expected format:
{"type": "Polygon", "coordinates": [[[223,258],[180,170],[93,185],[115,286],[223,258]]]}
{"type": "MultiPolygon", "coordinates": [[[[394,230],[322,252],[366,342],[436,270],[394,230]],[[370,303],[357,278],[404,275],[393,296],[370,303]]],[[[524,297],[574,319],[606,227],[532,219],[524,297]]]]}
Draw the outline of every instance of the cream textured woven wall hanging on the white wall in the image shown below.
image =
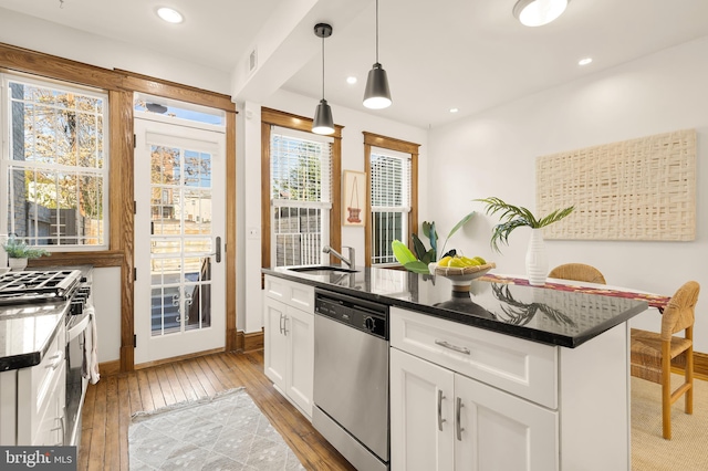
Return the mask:
{"type": "Polygon", "coordinates": [[[539,157],[538,213],[571,205],[545,239],[694,240],[696,130],[539,157]]]}

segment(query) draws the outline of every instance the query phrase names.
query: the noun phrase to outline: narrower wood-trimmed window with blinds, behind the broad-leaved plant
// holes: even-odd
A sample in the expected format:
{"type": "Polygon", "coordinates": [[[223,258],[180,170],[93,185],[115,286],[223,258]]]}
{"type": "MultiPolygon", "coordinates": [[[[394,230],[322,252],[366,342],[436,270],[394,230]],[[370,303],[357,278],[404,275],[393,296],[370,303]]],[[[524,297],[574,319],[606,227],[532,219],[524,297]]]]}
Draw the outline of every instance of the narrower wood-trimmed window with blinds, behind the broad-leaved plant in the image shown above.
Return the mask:
{"type": "Polygon", "coordinates": [[[369,176],[366,262],[396,264],[391,242],[408,243],[417,226],[418,145],[364,133],[364,147],[369,176]]]}

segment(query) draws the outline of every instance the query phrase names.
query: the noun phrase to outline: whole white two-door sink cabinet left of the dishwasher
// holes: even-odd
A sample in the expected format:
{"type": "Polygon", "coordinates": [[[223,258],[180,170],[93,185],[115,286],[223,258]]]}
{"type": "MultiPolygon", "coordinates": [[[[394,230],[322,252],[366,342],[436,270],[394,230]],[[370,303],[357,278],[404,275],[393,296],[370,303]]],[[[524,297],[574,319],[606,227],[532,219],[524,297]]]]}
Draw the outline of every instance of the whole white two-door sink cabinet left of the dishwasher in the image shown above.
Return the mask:
{"type": "Polygon", "coordinates": [[[263,310],[266,376],[312,418],[314,289],[266,276],[263,310]]]}

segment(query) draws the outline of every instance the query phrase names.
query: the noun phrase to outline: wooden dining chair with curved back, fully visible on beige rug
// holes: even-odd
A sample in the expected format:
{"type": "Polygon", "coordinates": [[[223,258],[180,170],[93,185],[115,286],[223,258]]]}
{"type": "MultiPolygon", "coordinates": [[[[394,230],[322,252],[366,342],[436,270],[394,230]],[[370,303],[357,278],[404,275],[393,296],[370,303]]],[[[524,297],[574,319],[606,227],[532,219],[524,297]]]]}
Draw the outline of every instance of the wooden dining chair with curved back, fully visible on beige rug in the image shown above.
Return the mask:
{"type": "Polygon", "coordinates": [[[662,332],[632,329],[632,376],[662,385],[663,435],[671,439],[671,405],[685,396],[686,414],[694,414],[694,321],[700,285],[686,282],[662,314],[662,332]],[[674,334],[685,331],[684,337],[674,334]],[[684,383],[671,391],[671,360],[684,367],[684,383]]]}

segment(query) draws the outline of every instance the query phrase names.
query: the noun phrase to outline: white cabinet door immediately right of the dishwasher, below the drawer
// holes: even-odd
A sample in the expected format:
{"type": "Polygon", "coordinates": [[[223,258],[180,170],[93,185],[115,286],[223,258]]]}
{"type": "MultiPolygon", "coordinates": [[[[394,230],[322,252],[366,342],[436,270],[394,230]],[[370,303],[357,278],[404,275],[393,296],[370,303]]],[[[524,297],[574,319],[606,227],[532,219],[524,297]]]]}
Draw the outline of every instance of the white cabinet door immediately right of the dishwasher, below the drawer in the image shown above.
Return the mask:
{"type": "Polygon", "coordinates": [[[452,470],[454,377],[445,368],[391,349],[392,470],[452,470]]]}

